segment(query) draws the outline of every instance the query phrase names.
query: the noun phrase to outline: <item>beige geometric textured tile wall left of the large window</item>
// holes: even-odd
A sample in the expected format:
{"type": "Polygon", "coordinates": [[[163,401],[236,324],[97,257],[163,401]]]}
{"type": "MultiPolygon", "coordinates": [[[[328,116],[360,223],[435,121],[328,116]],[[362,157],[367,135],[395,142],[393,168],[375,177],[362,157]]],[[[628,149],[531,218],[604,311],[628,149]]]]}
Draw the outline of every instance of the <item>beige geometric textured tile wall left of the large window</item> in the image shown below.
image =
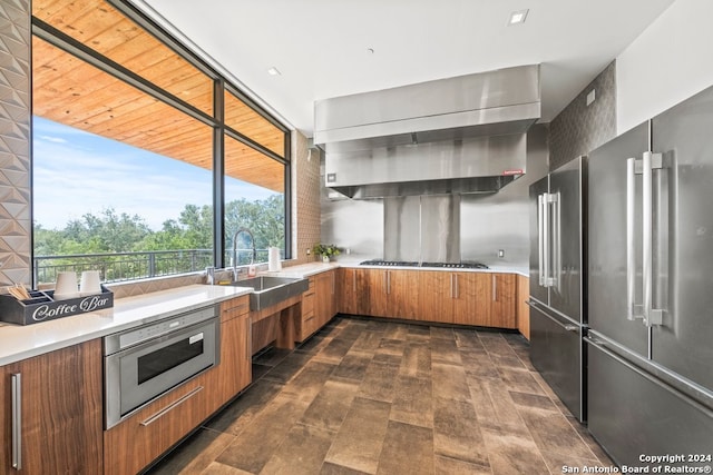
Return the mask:
{"type": "Polygon", "coordinates": [[[30,2],[0,2],[0,286],[31,281],[30,2]]]}

